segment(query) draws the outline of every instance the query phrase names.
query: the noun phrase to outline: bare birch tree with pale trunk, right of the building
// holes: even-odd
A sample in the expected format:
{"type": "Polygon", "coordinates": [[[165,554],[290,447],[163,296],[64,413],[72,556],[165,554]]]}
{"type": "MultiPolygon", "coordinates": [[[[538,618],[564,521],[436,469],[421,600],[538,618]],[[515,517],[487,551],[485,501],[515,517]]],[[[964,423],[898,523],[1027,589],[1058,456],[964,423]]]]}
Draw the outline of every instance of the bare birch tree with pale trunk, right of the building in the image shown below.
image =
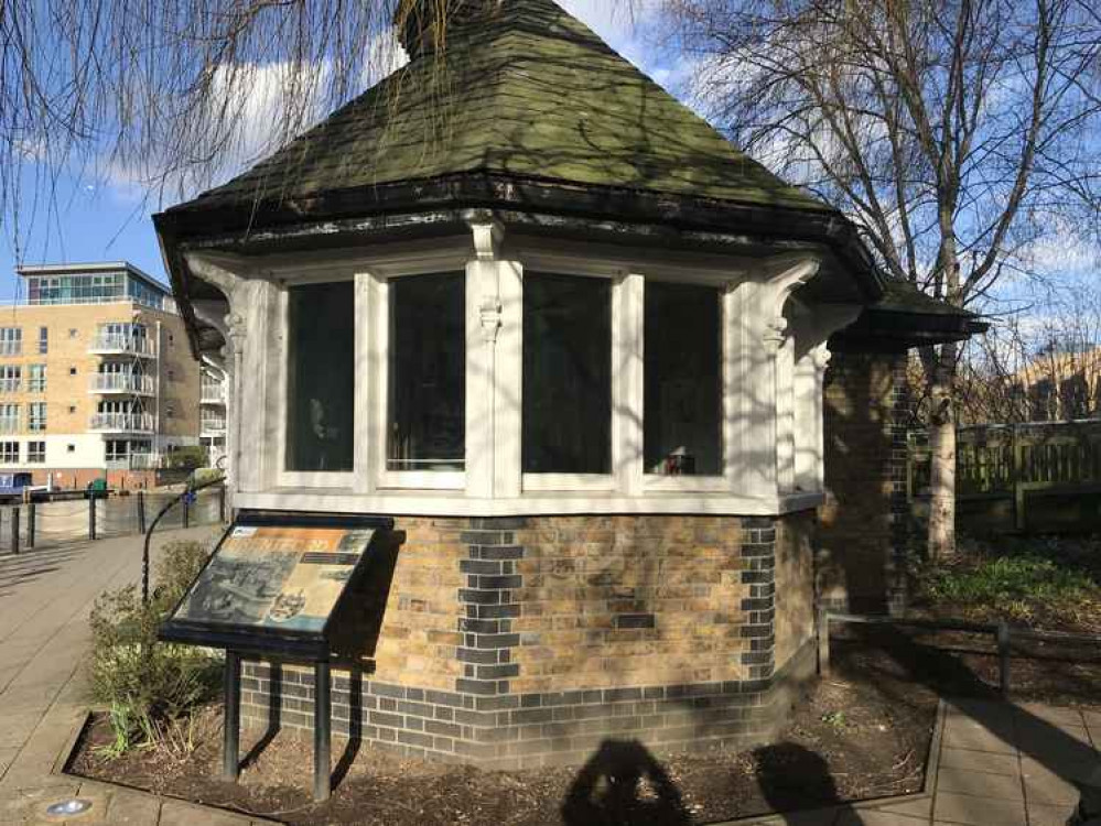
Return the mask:
{"type": "MultiPolygon", "coordinates": [[[[1060,226],[1097,229],[1101,21],[1086,0],[666,0],[704,108],[956,306],[1060,226]]],[[[921,354],[929,551],[954,550],[959,347],[921,354]]]]}

